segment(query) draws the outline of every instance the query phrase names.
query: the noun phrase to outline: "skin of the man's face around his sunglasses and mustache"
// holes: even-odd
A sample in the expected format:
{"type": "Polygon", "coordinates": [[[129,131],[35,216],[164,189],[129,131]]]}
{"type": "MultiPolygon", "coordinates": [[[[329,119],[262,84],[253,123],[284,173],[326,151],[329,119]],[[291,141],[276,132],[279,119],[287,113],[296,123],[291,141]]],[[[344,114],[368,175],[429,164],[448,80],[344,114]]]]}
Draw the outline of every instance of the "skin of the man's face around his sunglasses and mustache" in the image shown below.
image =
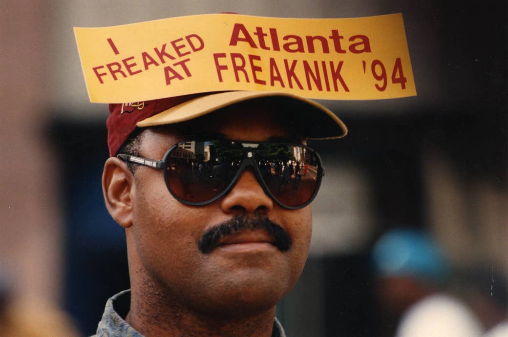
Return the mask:
{"type": "MultiPolygon", "coordinates": [[[[294,130],[273,118],[263,105],[242,105],[188,122],[193,132],[228,139],[267,141],[295,138],[294,130]]],[[[175,126],[144,132],[140,156],[160,160],[178,141],[175,126]]],[[[181,133],[181,130],[179,130],[181,133]]],[[[205,206],[188,206],[168,192],[161,170],[138,167],[132,184],[132,226],[126,229],[131,279],[153,284],[168,301],[203,314],[242,315],[273,308],[294,286],[305,264],[311,236],[310,206],[288,210],[267,196],[255,174],[245,170],[224,197],[205,206]],[[198,248],[208,229],[231,220],[267,217],[281,226],[292,245],[281,252],[263,230],[227,236],[209,253],[198,248]]]]}

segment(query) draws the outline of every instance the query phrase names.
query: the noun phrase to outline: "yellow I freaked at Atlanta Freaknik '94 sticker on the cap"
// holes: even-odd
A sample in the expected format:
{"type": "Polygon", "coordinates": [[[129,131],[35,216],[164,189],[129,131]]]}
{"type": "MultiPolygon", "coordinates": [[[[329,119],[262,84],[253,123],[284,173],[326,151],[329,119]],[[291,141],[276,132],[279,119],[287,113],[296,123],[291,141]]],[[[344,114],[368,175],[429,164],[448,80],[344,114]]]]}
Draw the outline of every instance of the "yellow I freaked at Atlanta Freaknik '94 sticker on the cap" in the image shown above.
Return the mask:
{"type": "Polygon", "coordinates": [[[329,100],[416,96],[400,13],[349,19],[205,14],[74,33],[91,102],[227,90],[329,100]]]}

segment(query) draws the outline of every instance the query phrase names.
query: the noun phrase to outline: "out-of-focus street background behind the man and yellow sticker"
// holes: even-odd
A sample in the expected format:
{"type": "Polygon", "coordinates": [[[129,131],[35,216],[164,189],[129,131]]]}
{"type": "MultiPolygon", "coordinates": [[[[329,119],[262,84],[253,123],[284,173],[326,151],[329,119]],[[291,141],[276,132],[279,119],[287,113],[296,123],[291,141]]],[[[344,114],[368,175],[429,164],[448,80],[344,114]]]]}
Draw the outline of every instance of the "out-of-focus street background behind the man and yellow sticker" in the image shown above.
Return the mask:
{"type": "Polygon", "coordinates": [[[404,18],[418,96],[322,102],[350,134],[310,144],[327,175],[311,255],[278,307],[288,334],[394,335],[436,292],[481,330],[506,319],[505,1],[4,0],[0,335],[9,320],[37,327],[26,335],[92,334],[106,299],[129,288],[100,185],[108,108],[88,102],[72,28],[218,12],[404,18]],[[397,231],[412,234],[387,239],[397,231]]]}

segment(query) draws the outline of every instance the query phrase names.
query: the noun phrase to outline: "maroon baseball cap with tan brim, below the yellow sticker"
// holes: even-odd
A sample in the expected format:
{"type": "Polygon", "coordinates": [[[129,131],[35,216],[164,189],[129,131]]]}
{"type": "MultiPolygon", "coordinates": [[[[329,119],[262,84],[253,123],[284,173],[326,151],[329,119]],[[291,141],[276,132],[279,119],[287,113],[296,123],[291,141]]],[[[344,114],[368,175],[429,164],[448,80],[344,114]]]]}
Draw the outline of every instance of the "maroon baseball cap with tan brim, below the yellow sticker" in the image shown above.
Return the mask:
{"type": "Polygon", "coordinates": [[[329,109],[312,100],[288,93],[266,91],[224,91],[169,97],[144,102],[109,104],[110,115],[106,122],[108,146],[115,156],[136,128],[174,124],[197,118],[236,103],[267,99],[284,107],[302,132],[310,139],[344,137],[347,128],[329,109]]]}

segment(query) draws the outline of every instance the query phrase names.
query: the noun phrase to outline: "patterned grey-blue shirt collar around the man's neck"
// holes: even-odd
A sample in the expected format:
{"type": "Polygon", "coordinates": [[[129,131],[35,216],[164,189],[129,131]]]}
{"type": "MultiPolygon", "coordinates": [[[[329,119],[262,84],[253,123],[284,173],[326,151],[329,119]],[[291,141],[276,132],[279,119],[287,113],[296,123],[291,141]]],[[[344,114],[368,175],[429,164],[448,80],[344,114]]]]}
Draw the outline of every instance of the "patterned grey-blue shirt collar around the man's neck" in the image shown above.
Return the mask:
{"type": "MultiPolygon", "coordinates": [[[[97,328],[97,334],[92,337],[143,337],[141,333],[134,330],[134,328],[122,318],[129,312],[130,305],[131,290],[124,290],[108,299],[104,314],[97,328]]],[[[273,323],[272,337],[286,337],[284,329],[277,318],[275,318],[275,322],[273,323]]]]}

